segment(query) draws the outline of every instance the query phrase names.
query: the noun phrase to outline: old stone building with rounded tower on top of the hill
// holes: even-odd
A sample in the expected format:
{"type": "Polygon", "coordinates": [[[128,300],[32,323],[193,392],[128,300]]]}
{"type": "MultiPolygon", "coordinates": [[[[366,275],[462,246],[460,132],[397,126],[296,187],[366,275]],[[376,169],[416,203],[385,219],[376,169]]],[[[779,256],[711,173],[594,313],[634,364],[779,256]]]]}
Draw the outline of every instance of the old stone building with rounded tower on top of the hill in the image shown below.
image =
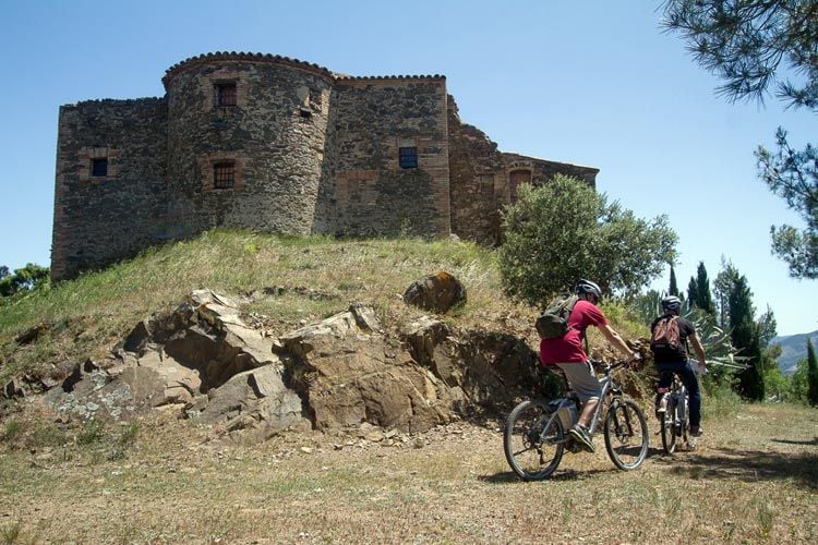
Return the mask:
{"type": "Polygon", "coordinates": [[[598,169],[497,150],[442,75],[353,77],[217,52],[165,96],[60,108],[51,275],[69,279],[214,227],[496,243],[521,183],[598,169]]]}

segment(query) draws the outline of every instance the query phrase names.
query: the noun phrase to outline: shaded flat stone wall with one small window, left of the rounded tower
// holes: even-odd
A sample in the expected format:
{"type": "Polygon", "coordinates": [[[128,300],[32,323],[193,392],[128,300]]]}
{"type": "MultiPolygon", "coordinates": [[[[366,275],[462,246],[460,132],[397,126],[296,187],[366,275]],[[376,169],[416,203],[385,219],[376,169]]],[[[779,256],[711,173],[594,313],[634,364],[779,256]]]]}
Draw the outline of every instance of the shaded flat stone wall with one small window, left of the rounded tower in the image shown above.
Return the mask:
{"type": "Polygon", "coordinates": [[[60,108],[51,276],[132,257],[160,240],[166,102],[98,100],[60,108]],[[92,175],[94,161],[106,175],[92,175]]]}

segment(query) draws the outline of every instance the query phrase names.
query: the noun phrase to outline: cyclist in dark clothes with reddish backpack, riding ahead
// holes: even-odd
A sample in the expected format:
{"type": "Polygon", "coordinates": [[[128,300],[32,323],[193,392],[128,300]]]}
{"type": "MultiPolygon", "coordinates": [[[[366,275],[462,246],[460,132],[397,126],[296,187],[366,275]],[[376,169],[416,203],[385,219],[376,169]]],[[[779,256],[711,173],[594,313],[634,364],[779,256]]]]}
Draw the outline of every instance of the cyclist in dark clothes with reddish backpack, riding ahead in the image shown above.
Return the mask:
{"type": "Polygon", "coordinates": [[[696,328],[690,324],[689,320],[678,317],[678,313],[682,310],[682,301],[675,296],[670,295],[662,300],[662,311],[664,314],[659,316],[650,325],[650,336],[653,338],[657,325],[667,318],[675,318],[678,324],[678,336],[679,347],[676,350],[667,349],[654,349],[653,361],[657,365],[657,372],[659,372],[659,386],[657,392],[657,416],[660,419],[664,417],[664,407],[661,407],[661,400],[663,392],[667,391],[673,382],[673,373],[678,375],[682,384],[687,388],[687,395],[690,400],[690,435],[698,437],[701,435],[701,390],[699,389],[699,382],[696,378],[696,373],[690,366],[690,362],[687,359],[687,341],[693,344],[693,350],[699,359],[699,365],[702,370],[707,367],[707,360],[705,359],[705,349],[699,342],[699,338],[696,337],[696,328]]]}

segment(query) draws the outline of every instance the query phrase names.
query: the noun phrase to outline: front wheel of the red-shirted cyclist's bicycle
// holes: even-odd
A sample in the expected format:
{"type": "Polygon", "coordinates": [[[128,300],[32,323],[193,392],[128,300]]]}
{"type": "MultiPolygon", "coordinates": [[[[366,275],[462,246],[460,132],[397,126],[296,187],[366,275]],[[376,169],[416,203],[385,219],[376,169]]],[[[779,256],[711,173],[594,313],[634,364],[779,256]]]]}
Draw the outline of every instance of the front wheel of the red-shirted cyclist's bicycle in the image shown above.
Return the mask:
{"type": "Polygon", "coordinates": [[[605,449],[621,470],[641,465],[648,455],[648,422],[635,401],[614,399],[605,416],[605,449]]]}

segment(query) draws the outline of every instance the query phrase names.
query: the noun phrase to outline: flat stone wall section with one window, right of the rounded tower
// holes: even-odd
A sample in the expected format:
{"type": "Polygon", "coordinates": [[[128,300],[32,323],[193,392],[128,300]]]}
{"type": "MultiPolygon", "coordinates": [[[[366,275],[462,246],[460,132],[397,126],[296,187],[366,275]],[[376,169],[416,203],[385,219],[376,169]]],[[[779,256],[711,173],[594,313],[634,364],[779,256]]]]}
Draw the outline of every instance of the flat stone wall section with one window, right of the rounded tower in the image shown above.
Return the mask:
{"type": "Polygon", "coordinates": [[[333,110],[336,231],[447,235],[445,78],[342,78],[333,110]],[[400,167],[401,147],[416,148],[417,168],[400,167]]]}

